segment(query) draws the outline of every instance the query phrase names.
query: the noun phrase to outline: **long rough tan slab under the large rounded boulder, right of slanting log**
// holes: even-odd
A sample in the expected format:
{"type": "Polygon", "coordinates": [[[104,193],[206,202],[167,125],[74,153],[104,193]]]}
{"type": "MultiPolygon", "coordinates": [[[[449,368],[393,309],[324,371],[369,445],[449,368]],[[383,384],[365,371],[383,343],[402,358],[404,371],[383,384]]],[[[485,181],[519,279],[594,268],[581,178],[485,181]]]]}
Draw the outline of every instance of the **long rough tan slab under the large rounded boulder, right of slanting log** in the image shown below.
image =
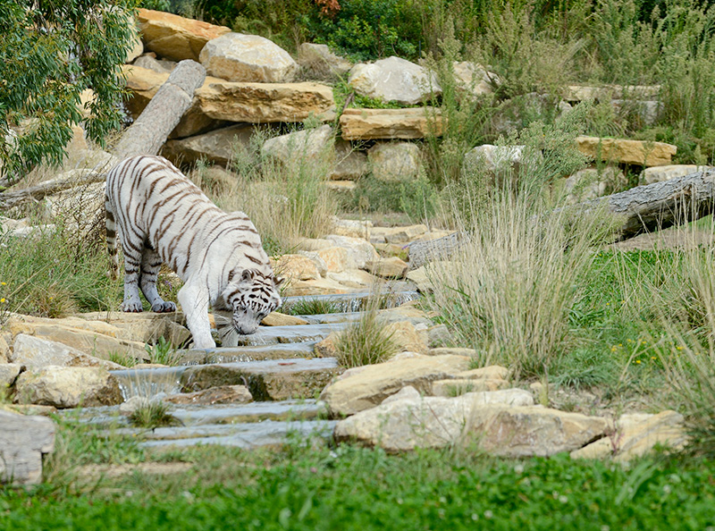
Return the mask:
{"type": "Polygon", "coordinates": [[[309,116],[335,118],[332,89],[318,83],[239,83],[214,81],[195,93],[201,111],[216,120],[269,123],[303,122],[309,116]]]}

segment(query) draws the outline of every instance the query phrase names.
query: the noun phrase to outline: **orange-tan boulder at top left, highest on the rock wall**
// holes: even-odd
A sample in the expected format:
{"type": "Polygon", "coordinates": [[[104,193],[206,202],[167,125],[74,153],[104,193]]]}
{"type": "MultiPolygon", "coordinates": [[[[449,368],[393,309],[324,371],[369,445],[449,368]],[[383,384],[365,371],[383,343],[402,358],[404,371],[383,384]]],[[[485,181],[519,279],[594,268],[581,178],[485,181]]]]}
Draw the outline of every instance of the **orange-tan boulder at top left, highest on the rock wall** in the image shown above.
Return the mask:
{"type": "Polygon", "coordinates": [[[208,41],[231,31],[225,26],[215,26],[150,9],[139,9],[138,21],[147,50],[174,61],[198,61],[198,56],[208,41]]]}

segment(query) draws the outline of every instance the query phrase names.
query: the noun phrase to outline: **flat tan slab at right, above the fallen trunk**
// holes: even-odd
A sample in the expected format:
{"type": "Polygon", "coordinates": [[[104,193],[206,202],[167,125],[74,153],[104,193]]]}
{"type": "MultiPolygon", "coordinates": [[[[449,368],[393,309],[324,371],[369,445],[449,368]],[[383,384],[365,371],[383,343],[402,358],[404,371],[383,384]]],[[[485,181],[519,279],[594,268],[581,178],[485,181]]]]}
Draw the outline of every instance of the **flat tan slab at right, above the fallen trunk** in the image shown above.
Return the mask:
{"type": "Polygon", "coordinates": [[[677,147],[672,144],[643,140],[577,137],[576,145],[581,153],[593,156],[593,158],[618,164],[641,166],[670,164],[672,156],[677,152],[677,147]]]}

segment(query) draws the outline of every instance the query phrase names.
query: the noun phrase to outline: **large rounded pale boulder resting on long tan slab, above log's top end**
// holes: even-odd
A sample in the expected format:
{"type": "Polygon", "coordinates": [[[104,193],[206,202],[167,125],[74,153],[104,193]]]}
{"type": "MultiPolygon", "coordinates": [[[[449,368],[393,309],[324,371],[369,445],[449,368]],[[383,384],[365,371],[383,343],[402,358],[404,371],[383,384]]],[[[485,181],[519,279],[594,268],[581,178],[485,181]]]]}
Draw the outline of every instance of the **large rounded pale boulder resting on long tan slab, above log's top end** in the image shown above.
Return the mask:
{"type": "Polygon", "coordinates": [[[199,60],[210,75],[229,81],[286,83],[298,71],[298,63],[281,46],[241,33],[226,33],[208,41],[199,60]]]}

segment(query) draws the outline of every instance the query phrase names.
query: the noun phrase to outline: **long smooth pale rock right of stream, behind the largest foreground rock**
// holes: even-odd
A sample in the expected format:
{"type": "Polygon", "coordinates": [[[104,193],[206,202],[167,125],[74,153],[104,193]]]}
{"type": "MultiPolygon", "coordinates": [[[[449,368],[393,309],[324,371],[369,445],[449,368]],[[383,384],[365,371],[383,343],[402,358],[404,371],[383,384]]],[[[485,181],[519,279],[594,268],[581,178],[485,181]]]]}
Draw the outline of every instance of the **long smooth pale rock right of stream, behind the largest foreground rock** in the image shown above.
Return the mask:
{"type": "Polygon", "coordinates": [[[454,378],[469,362],[464,356],[416,356],[356,367],[325,387],[320,399],[333,417],[354,415],[374,408],[408,385],[430,392],[434,380],[454,378]]]}

